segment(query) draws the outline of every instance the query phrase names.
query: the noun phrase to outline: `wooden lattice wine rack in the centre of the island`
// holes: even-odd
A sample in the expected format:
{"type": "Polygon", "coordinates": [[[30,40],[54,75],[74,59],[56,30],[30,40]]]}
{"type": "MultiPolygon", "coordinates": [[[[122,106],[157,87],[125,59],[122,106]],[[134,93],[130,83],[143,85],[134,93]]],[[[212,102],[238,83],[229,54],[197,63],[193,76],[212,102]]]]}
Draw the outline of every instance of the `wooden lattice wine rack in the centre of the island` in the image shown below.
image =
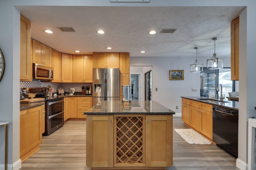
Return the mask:
{"type": "Polygon", "coordinates": [[[144,116],[116,116],[116,165],[143,164],[144,116]]]}

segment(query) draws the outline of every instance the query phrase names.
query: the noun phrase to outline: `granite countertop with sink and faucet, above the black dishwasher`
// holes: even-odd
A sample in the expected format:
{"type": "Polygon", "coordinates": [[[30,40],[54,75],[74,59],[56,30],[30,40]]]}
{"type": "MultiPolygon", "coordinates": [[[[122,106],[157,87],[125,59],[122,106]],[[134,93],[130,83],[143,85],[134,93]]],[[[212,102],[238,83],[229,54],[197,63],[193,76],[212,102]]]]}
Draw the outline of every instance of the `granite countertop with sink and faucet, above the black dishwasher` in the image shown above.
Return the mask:
{"type": "MultiPolygon", "coordinates": [[[[186,98],[186,99],[190,99],[190,100],[196,100],[198,102],[203,102],[203,103],[207,103],[207,104],[212,104],[214,106],[222,106],[222,107],[226,107],[228,109],[234,109],[234,110],[238,110],[239,108],[239,102],[237,101],[230,101],[230,100],[219,100],[219,101],[211,101],[211,100],[203,100],[203,99],[209,99],[206,97],[188,97],[188,96],[181,96],[182,98],[186,98]]],[[[212,100],[218,100],[218,99],[212,99],[212,100]]]]}

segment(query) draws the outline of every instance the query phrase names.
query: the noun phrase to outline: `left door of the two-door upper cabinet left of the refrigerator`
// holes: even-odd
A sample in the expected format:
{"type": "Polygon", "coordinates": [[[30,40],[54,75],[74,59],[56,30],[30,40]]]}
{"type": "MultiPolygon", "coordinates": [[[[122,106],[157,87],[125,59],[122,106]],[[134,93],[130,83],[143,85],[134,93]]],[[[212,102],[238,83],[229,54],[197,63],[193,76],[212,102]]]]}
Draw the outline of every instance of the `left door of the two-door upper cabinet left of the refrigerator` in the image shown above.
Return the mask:
{"type": "Polygon", "coordinates": [[[73,78],[74,83],[84,82],[84,55],[73,55],[73,78]]]}

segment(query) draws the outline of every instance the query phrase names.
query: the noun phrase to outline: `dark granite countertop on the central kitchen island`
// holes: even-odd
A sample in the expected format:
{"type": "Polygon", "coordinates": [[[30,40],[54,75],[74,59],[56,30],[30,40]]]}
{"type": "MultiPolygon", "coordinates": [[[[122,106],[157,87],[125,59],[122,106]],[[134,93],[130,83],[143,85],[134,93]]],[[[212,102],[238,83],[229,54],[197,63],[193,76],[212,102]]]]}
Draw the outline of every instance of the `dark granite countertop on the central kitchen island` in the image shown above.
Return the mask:
{"type": "Polygon", "coordinates": [[[102,101],[84,112],[86,115],[115,115],[115,114],[146,114],[146,115],[172,115],[174,111],[155,101],[132,101],[131,106],[122,101],[102,101]]]}

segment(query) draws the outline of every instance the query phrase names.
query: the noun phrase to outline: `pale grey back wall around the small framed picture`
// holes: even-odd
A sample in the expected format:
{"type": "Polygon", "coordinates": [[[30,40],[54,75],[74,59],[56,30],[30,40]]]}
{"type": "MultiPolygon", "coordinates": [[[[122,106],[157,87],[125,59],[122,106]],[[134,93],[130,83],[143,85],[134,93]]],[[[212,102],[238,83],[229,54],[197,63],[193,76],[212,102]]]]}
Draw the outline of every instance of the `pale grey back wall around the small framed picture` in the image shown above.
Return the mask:
{"type": "MultiPolygon", "coordinates": [[[[193,54],[192,54],[193,55],[193,54]]],[[[198,58],[205,63],[208,58],[198,58]]],[[[223,59],[224,66],[230,67],[230,57],[223,59]]],[[[181,113],[181,96],[200,96],[200,73],[191,73],[190,64],[194,63],[194,57],[131,57],[130,65],[152,65],[152,100],[181,113]],[[184,70],[184,80],[170,80],[169,70],[184,70]],[[158,91],[155,89],[158,88],[158,91]],[[193,91],[192,88],[198,88],[193,91]],[[179,109],[176,109],[178,106],[179,109]]],[[[139,71],[139,70],[136,70],[139,71]]],[[[146,71],[141,70],[142,73],[146,71]]],[[[148,71],[148,69],[147,69],[148,71]]],[[[131,72],[135,72],[131,69],[131,72]]],[[[143,74],[143,81],[144,74],[143,74]]],[[[144,87],[144,83],[143,83],[144,87]]],[[[144,92],[144,91],[143,91],[144,92]]]]}

